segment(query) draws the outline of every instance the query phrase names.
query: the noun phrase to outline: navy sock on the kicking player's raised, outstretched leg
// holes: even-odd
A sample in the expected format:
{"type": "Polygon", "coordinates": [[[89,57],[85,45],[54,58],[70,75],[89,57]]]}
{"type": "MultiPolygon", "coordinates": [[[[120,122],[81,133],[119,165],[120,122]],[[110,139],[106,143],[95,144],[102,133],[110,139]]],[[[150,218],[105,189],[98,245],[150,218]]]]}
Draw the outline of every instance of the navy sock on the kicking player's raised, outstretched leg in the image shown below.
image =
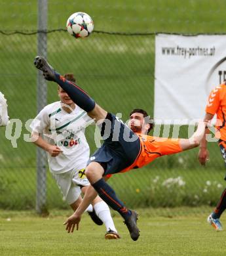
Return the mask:
{"type": "Polygon", "coordinates": [[[66,91],[67,95],[77,104],[80,108],[83,108],[86,112],[90,112],[95,107],[95,102],[90,96],[87,95],[83,89],[75,85],[75,83],[68,81],[62,75],[55,73],[55,81],[66,91]]]}

